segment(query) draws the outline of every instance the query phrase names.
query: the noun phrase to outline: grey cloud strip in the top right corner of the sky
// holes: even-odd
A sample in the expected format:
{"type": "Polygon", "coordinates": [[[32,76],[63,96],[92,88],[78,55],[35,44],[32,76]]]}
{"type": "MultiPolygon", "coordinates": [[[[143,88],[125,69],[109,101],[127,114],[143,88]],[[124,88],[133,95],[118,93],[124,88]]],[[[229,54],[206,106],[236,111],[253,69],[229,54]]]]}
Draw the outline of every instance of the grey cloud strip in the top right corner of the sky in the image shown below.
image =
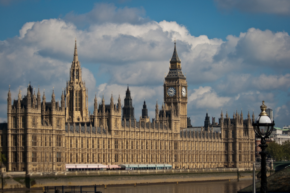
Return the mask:
{"type": "Polygon", "coordinates": [[[215,0],[220,10],[238,9],[250,13],[290,15],[288,0],[215,0]]]}

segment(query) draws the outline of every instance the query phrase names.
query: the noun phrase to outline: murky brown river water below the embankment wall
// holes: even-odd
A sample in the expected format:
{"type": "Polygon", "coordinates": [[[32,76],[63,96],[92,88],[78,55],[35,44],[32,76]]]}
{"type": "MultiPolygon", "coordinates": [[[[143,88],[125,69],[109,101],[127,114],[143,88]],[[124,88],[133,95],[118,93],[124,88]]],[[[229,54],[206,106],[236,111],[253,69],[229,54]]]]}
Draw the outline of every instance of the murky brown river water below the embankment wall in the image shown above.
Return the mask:
{"type": "MultiPolygon", "coordinates": [[[[107,186],[104,189],[103,186],[97,186],[97,191],[103,193],[236,193],[238,190],[245,188],[252,184],[252,180],[241,181],[206,181],[206,182],[194,182],[194,183],[178,183],[176,184],[154,184],[154,185],[138,185],[134,186],[107,186]]],[[[59,188],[60,193],[61,188],[59,188]]],[[[67,190],[65,190],[67,191],[67,190]]],[[[82,188],[82,192],[94,191],[94,187],[82,188]]],[[[42,190],[19,190],[13,191],[15,193],[43,193],[42,190]]],[[[50,189],[50,192],[54,192],[50,189]]],[[[75,187],[75,193],[80,192],[80,188],[75,187]]],[[[11,193],[5,191],[4,193],[11,193]]]]}

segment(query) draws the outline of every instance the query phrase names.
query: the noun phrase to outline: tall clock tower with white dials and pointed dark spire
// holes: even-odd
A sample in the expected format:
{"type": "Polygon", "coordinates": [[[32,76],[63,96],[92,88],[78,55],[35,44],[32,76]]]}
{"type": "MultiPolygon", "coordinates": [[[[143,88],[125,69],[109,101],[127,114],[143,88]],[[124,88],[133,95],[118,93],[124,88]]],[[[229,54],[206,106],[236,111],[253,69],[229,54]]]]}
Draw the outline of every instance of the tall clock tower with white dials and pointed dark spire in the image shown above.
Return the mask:
{"type": "Polygon", "coordinates": [[[181,71],[181,61],[176,51],[176,41],[174,44],[169,72],[164,80],[164,103],[166,110],[169,110],[171,103],[176,110],[179,105],[180,129],[185,129],[187,127],[187,81],[181,71]]]}

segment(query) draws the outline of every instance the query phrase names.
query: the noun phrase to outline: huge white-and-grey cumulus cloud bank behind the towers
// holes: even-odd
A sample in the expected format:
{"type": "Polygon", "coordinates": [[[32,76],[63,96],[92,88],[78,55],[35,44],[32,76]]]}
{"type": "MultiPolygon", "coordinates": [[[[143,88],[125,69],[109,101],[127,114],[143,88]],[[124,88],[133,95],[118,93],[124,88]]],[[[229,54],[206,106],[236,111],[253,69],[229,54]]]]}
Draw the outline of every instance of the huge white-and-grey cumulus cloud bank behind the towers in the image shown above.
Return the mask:
{"type": "MultiPolygon", "coordinates": [[[[36,88],[40,85],[41,91],[45,89],[47,100],[53,87],[60,97],[69,77],[75,37],[91,110],[95,94],[100,102],[104,93],[106,103],[111,95],[117,102],[120,94],[123,104],[129,84],[135,115],[141,114],[145,98],[149,116],[155,116],[156,99],[159,106],[163,99],[163,75],[169,70],[174,38],[189,85],[188,115],[193,122],[203,122],[200,114],[205,109],[214,116],[220,114],[220,108],[259,109],[263,98],[274,109],[288,91],[288,33],[251,28],[223,41],[195,37],[175,21],[151,21],[143,14],[142,8],[96,4],[86,14],[24,24],[19,36],[0,41],[0,105],[7,104],[9,85],[12,96],[17,97],[19,86],[26,94],[29,81],[36,88]],[[88,20],[85,29],[78,24],[84,20],[88,20]],[[256,70],[265,66],[268,71],[256,70]]],[[[1,112],[3,120],[6,112],[1,112]]]]}

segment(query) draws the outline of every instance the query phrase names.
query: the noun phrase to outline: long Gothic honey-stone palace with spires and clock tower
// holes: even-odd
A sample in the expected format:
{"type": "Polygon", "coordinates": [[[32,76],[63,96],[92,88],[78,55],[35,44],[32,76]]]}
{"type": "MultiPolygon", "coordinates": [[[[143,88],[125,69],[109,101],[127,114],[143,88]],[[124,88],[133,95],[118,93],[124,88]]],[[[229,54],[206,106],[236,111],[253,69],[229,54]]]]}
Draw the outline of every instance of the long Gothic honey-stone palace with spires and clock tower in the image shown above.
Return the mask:
{"type": "MultiPolygon", "coordinates": [[[[95,96],[88,111],[88,91],[82,79],[75,41],[69,81],[61,101],[27,93],[7,98],[7,123],[1,123],[1,153],[7,171],[64,172],[65,164],[170,164],[172,168],[250,168],[254,161],[254,130],[248,113],[220,113],[219,123],[187,127],[187,81],[176,50],[164,79],[164,103],[156,102],[150,120],[144,101],[135,119],[129,86],[122,105],[111,96],[95,96]],[[140,109],[141,110],[141,109],[140,109]],[[217,126],[218,125],[218,126],[217,126]]],[[[37,89],[36,89],[37,90],[37,89]]]]}

